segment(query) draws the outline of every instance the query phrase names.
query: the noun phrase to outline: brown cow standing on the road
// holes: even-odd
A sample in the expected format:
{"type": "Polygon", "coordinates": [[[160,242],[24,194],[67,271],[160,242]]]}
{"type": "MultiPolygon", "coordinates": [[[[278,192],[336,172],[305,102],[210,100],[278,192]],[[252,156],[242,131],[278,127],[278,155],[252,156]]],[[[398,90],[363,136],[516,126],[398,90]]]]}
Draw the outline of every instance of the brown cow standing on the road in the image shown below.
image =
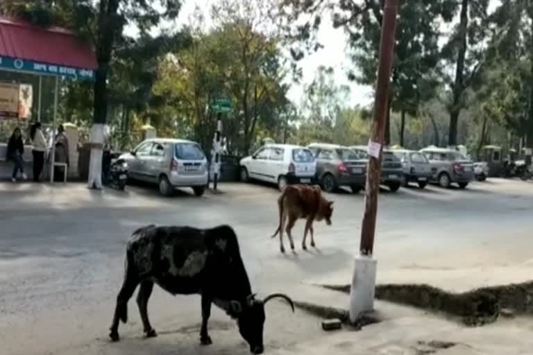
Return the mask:
{"type": "Polygon", "coordinates": [[[287,236],[291,242],[291,249],[294,250],[294,241],[292,240],[291,230],[294,227],[294,223],[299,218],[304,218],[305,230],[303,232],[302,248],[307,250],[305,245],[305,239],[307,239],[307,231],[311,232],[311,246],[314,248],[314,236],[313,236],[313,220],[323,220],[327,225],[331,225],[331,216],[333,214],[333,202],[326,200],[322,196],[322,190],[319,186],[309,185],[287,185],[283,189],[280,197],[278,198],[278,209],[280,211],[280,224],[278,230],[272,236],[274,238],[278,233],[280,234],[280,250],[285,252],[285,246],[283,245],[283,227],[285,221],[289,219],[287,223],[287,236]]]}

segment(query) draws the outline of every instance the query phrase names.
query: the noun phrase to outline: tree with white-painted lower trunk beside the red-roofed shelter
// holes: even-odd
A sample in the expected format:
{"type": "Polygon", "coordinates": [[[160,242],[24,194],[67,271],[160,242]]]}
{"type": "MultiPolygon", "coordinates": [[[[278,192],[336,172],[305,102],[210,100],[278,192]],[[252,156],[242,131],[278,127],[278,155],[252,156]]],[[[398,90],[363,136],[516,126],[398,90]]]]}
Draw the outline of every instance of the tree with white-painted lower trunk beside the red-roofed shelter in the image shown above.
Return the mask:
{"type": "Polygon", "coordinates": [[[3,0],[9,15],[24,17],[35,24],[57,24],[72,28],[92,42],[96,50],[96,78],[89,186],[100,189],[103,126],[108,116],[108,78],[117,44],[126,44],[124,27],[136,26],[141,35],[157,27],[162,20],[172,20],[180,10],[180,0],[3,0]],[[158,10],[160,9],[160,10],[158,10]]]}

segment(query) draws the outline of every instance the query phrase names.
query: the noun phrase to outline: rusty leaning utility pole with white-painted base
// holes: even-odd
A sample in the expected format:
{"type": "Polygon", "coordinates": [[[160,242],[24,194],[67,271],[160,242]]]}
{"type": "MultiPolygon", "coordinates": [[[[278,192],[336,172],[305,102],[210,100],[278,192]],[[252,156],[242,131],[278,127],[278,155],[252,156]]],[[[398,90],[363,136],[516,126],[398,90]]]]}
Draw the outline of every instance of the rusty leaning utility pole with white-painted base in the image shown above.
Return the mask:
{"type": "Polygon", "coordinates": [[[372,134],[369,141],[369,165],[366,171],[366,196],[361,228],[359,255],[355,258],[354,275],[350,290],[350,321],[357,322],[360,315],[373,311],[376,260],[373,259],[375,219],[378,212],[378,193],[381,182],[381,155],[384,145],[389,83],[394,58],[396,17],[399,0],[385,0],[380,40],[378,81],[375,89],[372,134]]]}

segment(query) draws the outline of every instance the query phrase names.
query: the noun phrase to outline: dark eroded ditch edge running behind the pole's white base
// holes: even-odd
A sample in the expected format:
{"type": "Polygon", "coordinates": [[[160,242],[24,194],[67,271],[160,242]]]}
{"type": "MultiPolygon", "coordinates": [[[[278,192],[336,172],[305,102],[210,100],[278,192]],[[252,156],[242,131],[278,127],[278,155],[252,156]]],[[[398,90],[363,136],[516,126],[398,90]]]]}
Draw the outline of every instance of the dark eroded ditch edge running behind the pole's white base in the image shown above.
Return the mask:
{"type": "MultiPolygon", "coordinates": [[[[333,291],[350,293],[350,285],[328,285],[333,291]]],[[[450,293],[425,284],[386,284],[375,287],[375,298],[461,318],[471,326],[496,321],[500,312],[533,315],[533,282],[478,288],[450,293]]]]}

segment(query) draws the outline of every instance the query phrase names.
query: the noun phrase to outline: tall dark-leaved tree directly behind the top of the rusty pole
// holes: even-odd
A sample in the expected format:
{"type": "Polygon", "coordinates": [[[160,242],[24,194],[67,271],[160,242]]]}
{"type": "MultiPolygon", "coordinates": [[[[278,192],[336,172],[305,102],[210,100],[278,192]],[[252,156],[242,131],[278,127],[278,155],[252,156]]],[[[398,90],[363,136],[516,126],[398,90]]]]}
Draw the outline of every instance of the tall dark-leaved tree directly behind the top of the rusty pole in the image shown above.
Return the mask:
{"type": "MultiPolygon", "coordinates": [[[[287,17],[287,33],[292,40],[301,43],[315,42],[312,49],[320,47],[313,33],[321,25],[326,13],[332,14],[335,27],[344,28],[348,33],[350,57],[357,70],[348,77],[364,85],[375,85],[376,67],[379,55],[384,1],[290,1],[284,3],[287,17]],[[303,25],[301,19],[307,16],[303,25]]],[[[441,20],[452,19],[450,0],[402,1],[396,32],[396,49],[392,72],[389,111],[401,112],[402,129],[400,143],[403,144],[403,128],[406,114],[416,114],[419,105],[432,96],[432,88],[437,86],[439,63],[439,24],[441,20]]],[[[310,46],[307,47],[309,49],[310,46]]],[[[301,48],[293,49],[296,60],[303,57],[301,48]]],[[[387,115],[386,142],[390,141],[389,117],[387,115]]]]}

